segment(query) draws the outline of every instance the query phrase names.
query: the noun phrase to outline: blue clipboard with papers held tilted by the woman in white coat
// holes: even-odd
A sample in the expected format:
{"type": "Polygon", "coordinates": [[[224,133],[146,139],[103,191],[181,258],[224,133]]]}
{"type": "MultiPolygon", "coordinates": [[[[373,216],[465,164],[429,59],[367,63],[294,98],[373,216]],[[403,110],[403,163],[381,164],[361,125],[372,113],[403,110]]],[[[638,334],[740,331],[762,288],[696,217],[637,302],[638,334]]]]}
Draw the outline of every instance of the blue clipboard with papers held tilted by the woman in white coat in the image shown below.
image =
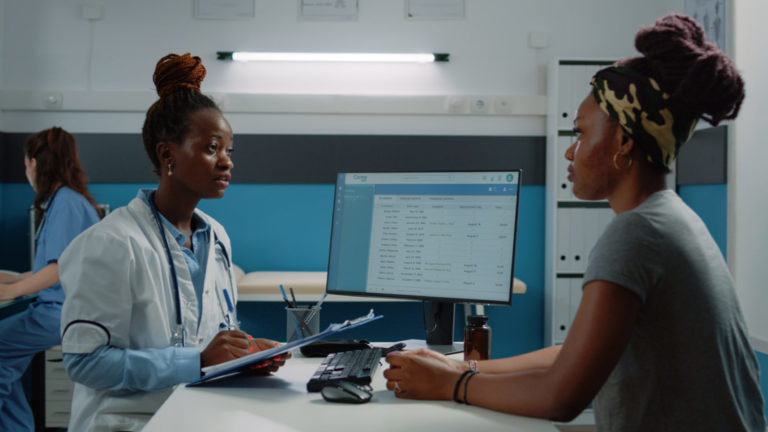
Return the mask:
{"type": "Polygon", "coordinates": [[[259,363],[268,361],[273,357],[277,357],[281,354],[285,354],[294,348],[302,347],[316,340],[324,339],[328,336],[334,335],[344,330],[359,327],[363,324],[367,324],[379,318],[383,318],[383,315],[375,315],[373,313],[373,309],[371,309],[371,311],[368,312],[367,315],[363,315],[353,320],[346,320],[341,323],[331,324],[328,326],[328,328],[326,328],[325,330],[323,330],[318,334],[308,336],[303,339],[297,339],[295,341],[288,342],[286,344],[280,345],[275,348],[270,348],[268,350],[255,352],[253,354],[248,354],[246,356],[236,358],[234,360],[230,360],[224,363],[219,363],[213,366],[205,367],[202,369],[203,376],[198,380],[188,383],[187,387],[202,385],[215,378],[247,371],[250,366],[256,366],[259,363]]]}

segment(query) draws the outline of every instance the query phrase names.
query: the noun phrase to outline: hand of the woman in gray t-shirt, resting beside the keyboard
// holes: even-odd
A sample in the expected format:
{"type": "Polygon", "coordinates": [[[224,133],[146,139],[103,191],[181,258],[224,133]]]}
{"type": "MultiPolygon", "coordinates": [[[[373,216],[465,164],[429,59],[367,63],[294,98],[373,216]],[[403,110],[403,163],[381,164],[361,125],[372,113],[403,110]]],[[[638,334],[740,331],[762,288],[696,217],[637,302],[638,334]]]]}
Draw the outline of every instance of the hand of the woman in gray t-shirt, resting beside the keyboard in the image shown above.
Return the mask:
{"type": "Polygon", "coordinates": [[[387,363],[387,389],[399,398],[451,400],[462,373],[460,363],[429,350],[392,352],[387,363]]]}

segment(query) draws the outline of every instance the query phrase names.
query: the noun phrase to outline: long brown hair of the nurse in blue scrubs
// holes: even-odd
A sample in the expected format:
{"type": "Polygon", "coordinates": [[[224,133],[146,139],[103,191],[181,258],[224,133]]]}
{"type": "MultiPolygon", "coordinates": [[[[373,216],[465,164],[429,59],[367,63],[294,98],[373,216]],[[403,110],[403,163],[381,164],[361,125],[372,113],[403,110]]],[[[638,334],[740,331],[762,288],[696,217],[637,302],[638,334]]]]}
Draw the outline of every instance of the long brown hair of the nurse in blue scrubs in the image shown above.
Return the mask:
{"type": "Polygon", "coordinates": [[[59,186],[67,186],[91,203],[101,215],[96,201],[85,185],[86,176],[80,165],[75,137],[60,127],[53,127],[32,134],[24,141],[24,155],[35,159],[35,226],[43,218],[43,202],[53,196],[59,186]]]}

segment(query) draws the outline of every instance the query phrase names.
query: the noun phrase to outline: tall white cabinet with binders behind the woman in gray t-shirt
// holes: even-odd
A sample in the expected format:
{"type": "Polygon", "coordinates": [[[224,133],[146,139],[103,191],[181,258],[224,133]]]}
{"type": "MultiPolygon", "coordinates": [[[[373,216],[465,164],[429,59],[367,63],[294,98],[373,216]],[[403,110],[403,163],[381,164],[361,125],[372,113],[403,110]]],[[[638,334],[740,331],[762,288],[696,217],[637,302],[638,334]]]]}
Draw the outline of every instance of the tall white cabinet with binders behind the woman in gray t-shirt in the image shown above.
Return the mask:
{"type": "MultiPolygon", "coordinates": [[[[607,201],[583,201],[568,182],[565,150],[574,139],[576,109],[592,91],[590,80],[612,60],[556,59],[549,67],[544,264],[544,345],[565,342],[581,301],[589,252],[613,219],[607,201]]],[[[675,174],[667,177],[674,186],[675,174]]]]}

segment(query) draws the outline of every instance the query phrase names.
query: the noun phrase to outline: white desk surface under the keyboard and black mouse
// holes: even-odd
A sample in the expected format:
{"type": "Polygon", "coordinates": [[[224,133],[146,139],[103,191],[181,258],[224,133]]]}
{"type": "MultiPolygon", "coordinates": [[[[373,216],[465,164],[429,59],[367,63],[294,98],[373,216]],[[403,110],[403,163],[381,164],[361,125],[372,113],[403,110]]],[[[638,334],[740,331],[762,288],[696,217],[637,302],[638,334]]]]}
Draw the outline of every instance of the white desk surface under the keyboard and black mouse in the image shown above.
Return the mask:
{"type": "Polygon", "coordinates": [[[241,376],[218,387],[179,386],[144,432],[263,431],[557,431],[551,422],[448,401],[397,399],[379,367],[371,402],[334,404],[308,393],[319,358],[294,357],[270,377],[241,376]]]}

